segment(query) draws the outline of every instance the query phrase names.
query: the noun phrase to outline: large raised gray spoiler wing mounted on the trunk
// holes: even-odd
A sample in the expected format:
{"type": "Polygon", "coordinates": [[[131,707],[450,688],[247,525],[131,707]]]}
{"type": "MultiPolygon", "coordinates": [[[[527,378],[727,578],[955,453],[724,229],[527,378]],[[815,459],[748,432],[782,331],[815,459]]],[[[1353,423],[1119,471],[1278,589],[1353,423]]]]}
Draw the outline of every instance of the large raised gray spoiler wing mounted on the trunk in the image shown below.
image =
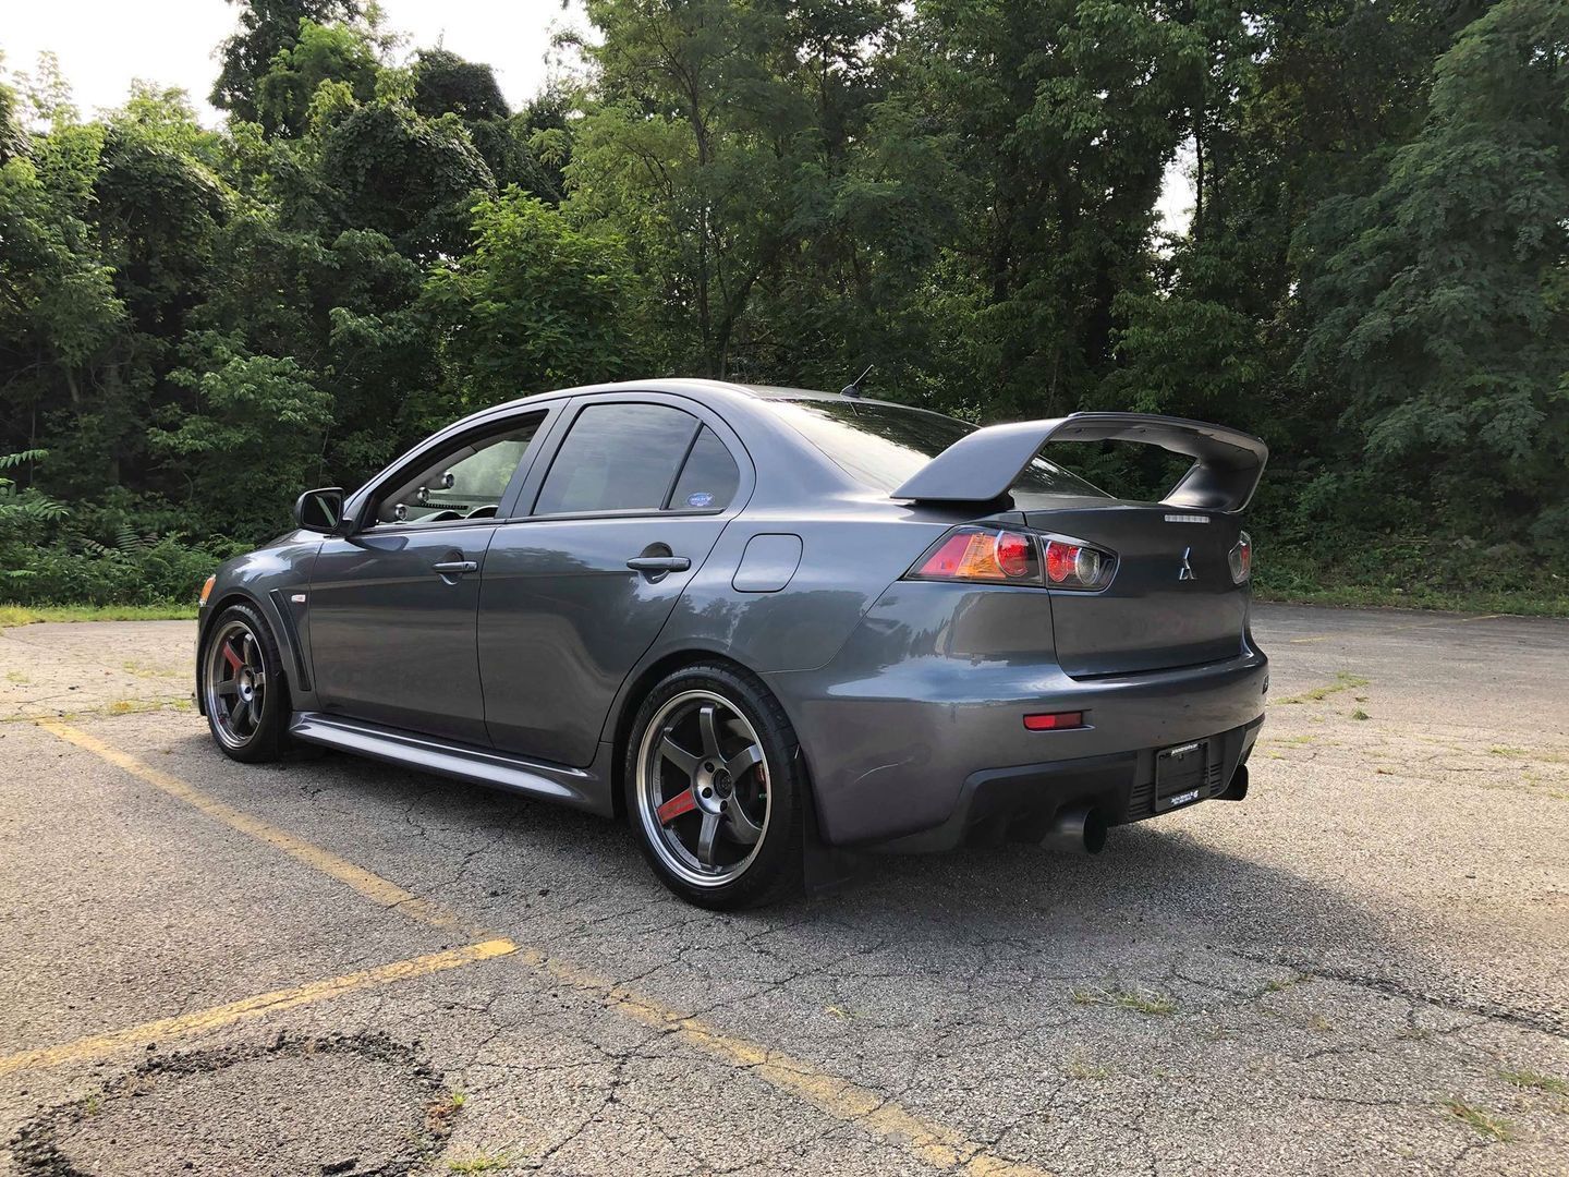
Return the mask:
{"type": "Polygon", "coordinates": [[[1161,499],[1169,507],[1235,513],[1265,472],[1269,447],[1224,425],[1144,413],[1073,413],[1053,421],[988,425],[945,449],[890,497],[990,502],[1018,480],[1048,441],[1139,441],[1191,457],[1192,466],[1161,499]]]}

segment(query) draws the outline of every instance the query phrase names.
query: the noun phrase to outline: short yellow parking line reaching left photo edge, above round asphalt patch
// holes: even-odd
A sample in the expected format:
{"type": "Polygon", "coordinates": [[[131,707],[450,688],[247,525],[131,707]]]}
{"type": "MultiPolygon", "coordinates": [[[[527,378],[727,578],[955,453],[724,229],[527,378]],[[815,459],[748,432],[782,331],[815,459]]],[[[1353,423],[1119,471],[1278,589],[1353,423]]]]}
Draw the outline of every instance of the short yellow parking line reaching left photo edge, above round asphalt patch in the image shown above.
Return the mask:
{"type": "Polygon", "coordinates": [[[395,981],[408,981],[416,976],[425,976],[427,973],[441,973],[447,968],[458,968],[460,965],[474,964],[475,960],[490,960],[491,957],[507,956],[508,953],[516,951],[518,945],[511,940],[483,940],[477,945],[468,945],[464,948],[449,948],[441,953],[427,953],[425,956],[416,956],[411,960],[399,960],[391,965],[366,968],[359,973],[334,976],[326,981],[312,981],[304,986],[297,986],[295,989],[278,989],[271,993],[248,997],[240,1001],[231,1001],[226,1006],[202,1009],[196,1014],[165,1017],[157,1022],[143,1022],[140,1026],[129,1026],[127,1029],[115,1029],[108,1034],[77,1039],[75,1042],[66,1042],[60,1047],[44,1047],[42,1050],[24,1050],[17,1055],[3,1055],[0,1056],[0,1075],[8,1075],[13,1070],[28,1070],[33,1067],[53,1067],[61,1062],[91,1062],[93,1059],[113,1055],[129,1047],[144,1047],[149,1042],[162,1042],[180,1034],[196,1034],[207,1029],[218,1029],[235,1022],[262,1017],[264,1014],[276,1014],[282,1009],[311,1004],[312,1001],[325,1001],[329,997],[348,993],[355,989],[389,986],[395,981]]]}

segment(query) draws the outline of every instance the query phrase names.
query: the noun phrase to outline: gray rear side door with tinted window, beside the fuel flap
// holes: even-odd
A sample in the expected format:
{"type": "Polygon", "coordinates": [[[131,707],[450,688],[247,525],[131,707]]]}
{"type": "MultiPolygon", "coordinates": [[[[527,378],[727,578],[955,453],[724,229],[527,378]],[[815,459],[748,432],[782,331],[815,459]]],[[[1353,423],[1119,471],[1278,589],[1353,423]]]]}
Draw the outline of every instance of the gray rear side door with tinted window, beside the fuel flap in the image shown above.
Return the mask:
{"type": "Polygon", "coordinates": [[[522,488],[529,518],[491,541],[479,654],[496,747],[587,766],[617,691],[753,474],[734,433],[681,397],[584,397],[568,414],[548,469],[522,488]]]}

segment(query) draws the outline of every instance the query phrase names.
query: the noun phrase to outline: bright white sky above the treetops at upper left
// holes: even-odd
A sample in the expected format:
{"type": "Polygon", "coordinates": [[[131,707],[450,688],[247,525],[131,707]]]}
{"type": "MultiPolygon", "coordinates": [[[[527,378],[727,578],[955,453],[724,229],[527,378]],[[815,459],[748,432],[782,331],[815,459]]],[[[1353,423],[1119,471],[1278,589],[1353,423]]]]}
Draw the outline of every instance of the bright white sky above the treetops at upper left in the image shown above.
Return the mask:
{"type": "MultiPolygon", "coordinates": [[[[381,0],[391,30],[410,35],[403,52],[438,41],[496,67],[513,105],[544,82],[551,30],[582,24],[562,0],[381,0]]],[[[235,28],[224,0],[0,0],[0,52],[6,71],[31,69],[39,52],[60,58],[77,107],[118,107],[132,78],[185,89],[204,122],[218,115],[207,93],[218,75],[213,50],[235,28]]]]}

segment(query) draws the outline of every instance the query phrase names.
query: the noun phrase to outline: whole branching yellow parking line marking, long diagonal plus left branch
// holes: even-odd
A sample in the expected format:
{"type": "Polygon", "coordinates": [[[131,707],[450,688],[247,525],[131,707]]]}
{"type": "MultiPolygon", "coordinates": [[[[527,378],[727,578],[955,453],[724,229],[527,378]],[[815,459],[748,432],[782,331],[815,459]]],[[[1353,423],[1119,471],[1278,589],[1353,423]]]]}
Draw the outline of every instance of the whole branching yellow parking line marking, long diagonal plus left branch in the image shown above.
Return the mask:
{"type": "MultiPolygon", "coordinates": [[[[297,838],[279,830],[259,818],[242,813],[215,797],[209,797],[185,782],[160,772],[151,764],[144,764],[127,752],[110,747],[99,739],[60,723],[58,720],[39,720],[39,727],[53,733],[60,739],[69,741],[80,749],[115,764],[132,774],[138,780],[163,789],[171,797],[177,797],[195,805],[202,813],[217,818],[254,838],[260,838],[270,846],[276,846],[286,854],[312,866],[339,882],[353,887],[361,895],[381,904],[394,907],[406,915],[435,924],[436,927],[466,927],[461,916],[428,899],[420,899],[411,891],[405,891],[397,884],[372,874],[362,866],[339,858],[331,851],[297,838]]],[[[488,935],[477,932],[475,935],[488,935]]],[[[83,1039],[64,1047],[49,1050],[25,1051],[0,1058],[0,1073],[22,1067],[47,1066],[82,1058],[96,1058],[127,1045],[144,1044],[152,1039],[166,1039],[176,1034],[196,1033],[228,1025],[243,1017],[290,1009],[306,1001],[319,1001],[336,993],[361,989],[369,984],[386,984],[402,981],[410,976],[433,973],[441,968],[453,968],[469,960],[483,960],[491,956],[515,956],[538,975],[551,982],[566,986],[582,993],[599,998],[607,1009],[623,1017],[631,1017],[654,1029],[675,1034],[683,1044],[701,1050],[704,1055],[726,1062],[739,1070],[756,1075],[775,1091],[794,1095],[819,1111],[855,1125],[897,1149],[902,1149],[916,1160],[937,1169],[957,1171],[967,1177],[1050,1177],[1045,1169],[1031,1164],[1018,1164],[1004,1160],[992,1152],[985,1144],[971,1141],[962,1133],[945,1125],[921,1119],[916,1113],[893,1099],[886,1099],[869,1088],[863,1088],[844,1078],[835,1078],[813,1067],[805,1059],[784,1055],[777,1050],[733,1037],[695,1017],[678,1009],[653,1001],[631,989],[624,989],[613,981],[588,973],[577,965],[549,956],[538,948],[516,945],[505,938],[488,938],[468,948],[455,948],[447,953],[431,953],[395,965],[383,965],[364,973],[319,981],[300,989],[286,989],[276,993],[235,1001],[229,1006],[209,1009],[201,1014],[149,1022],[144,1026],[121,1029],[99,1037],[83,1039]]]]}

